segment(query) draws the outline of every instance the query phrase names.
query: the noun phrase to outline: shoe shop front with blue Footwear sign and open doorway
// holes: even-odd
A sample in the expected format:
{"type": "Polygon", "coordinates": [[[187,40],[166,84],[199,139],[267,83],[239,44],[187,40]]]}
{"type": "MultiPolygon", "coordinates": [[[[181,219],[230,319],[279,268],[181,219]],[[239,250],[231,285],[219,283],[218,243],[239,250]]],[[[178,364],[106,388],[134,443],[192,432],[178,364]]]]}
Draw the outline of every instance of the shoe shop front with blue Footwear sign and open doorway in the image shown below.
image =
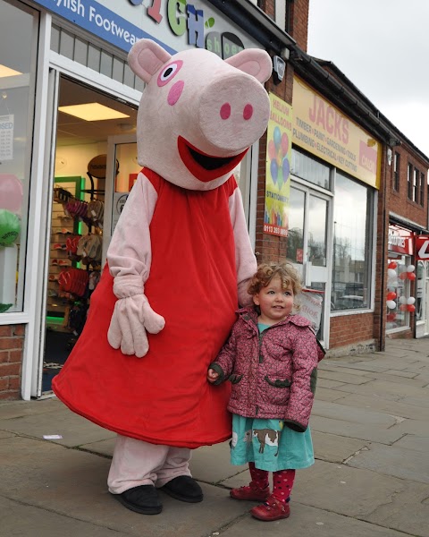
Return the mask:
{"type": "MultiPolygon", "coordinates": [[[[226,59],[261,45],[204,1],[0,0],[0,13],[0,328],[12,345],[2,361],[29,399],[50,393],[80,335],[139,172],[143,85],[130,47],[147,37],[226,59]],[[94,104],[107,115],[85,117],[94,104]]],[[[253,242],[257,163],[256,146],[235,170],[253,242]]]]}

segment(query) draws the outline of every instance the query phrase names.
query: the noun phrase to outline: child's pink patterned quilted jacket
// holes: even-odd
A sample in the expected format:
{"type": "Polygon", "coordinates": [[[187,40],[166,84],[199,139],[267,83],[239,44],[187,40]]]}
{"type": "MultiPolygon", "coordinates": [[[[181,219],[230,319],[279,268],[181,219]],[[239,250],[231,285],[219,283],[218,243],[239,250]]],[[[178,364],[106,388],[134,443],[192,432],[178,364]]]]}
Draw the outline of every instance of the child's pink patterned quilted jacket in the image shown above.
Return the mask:
{"type": "Polygon", "coordinates": [[[232,384],[228,410],[249,418],[278,418],[290,429],[307,430],[315,396],[317,362],[324,351],[310,322],[300,315],[259,334],[253,306],[237,311],[231,336],[210,364],[215,384],[232,384]]]}

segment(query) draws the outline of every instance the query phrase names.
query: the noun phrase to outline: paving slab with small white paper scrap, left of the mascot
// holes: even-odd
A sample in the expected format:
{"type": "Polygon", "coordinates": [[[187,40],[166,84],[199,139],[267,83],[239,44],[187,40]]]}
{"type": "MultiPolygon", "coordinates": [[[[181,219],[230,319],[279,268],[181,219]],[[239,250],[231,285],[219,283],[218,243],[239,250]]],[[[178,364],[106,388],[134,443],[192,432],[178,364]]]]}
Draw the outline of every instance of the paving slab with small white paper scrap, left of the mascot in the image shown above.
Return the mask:
{"type": "Polygon", "coordinates": [[[34,420],[32,415],[0,420],[0,430],[8,430],[37,439],[43,439],[44,435],[61,435],[63,439],[50,441],[68,447],[81,446],[116,436],[114,432],[98,427],[78,414],[69,410],[64,412],[64,408],[39,413],[38,420],[34,420]]]}

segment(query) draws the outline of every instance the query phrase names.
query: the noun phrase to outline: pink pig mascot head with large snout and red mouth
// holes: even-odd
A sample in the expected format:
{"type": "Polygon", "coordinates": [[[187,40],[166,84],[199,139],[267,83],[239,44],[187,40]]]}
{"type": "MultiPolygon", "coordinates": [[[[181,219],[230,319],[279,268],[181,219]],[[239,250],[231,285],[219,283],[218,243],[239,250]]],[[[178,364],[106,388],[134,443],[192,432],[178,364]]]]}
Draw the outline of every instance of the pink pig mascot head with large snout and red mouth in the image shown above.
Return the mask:
{"type": "Polygon", "coordinates": [[[139,105],[140,166],[189,190],[223,184],[265,132],[271,76],[265,50],[223,60],[202,48],[170,55],[151,39],[130,50],[129,64],[147,86],[139,105]]]}

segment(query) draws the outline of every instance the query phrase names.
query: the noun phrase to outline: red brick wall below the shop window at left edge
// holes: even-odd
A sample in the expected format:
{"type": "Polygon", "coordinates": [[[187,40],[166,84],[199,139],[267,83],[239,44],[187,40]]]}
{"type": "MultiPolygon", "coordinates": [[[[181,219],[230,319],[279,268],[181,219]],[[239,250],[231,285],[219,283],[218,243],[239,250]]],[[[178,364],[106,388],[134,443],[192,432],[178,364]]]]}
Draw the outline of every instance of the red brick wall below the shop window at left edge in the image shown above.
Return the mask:
{"type": "Polygon", "coordinates": [[[0,400],[21,397],[25,325],[0,326],[0,400]]]}

